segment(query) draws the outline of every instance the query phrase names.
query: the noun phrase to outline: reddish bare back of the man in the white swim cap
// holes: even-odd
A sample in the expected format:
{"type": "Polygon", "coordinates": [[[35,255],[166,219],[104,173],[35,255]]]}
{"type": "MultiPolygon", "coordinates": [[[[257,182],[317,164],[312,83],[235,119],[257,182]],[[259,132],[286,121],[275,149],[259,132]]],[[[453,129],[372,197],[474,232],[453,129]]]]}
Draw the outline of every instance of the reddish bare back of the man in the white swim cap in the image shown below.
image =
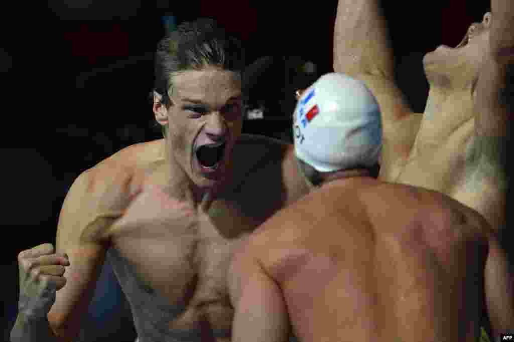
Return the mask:
{"type": "Polygon", "coordinates": [[[367,180],[342,191],[337,182],[259,231],[259,259],[280,284],[295,334],[476,340],[485,220],[425,189],[367,180]]]}

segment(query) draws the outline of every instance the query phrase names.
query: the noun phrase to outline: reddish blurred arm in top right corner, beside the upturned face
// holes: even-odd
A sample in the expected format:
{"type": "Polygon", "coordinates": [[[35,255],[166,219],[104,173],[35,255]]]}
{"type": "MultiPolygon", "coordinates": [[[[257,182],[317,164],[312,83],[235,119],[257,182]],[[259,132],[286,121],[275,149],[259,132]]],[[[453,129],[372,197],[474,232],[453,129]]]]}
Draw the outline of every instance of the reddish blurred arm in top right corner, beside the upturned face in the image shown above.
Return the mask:
{"type": "Polygon", "coordinates": [[[491,0],[491,12],[491,52],[498,62],[513,63],[514,3],[512,0],[491,0]]]}

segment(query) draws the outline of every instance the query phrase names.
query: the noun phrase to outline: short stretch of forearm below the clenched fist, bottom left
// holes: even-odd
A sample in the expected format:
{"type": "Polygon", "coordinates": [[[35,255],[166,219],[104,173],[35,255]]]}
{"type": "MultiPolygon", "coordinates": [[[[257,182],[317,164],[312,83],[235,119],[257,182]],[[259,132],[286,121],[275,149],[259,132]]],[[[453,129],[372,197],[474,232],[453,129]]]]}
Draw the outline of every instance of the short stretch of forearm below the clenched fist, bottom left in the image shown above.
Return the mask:
{"type": "Polygon", "coordinates": [[[11,342],[62,342],[53,333],[48,318],[30,318],[18,314],[11,330],[11,342]]]}

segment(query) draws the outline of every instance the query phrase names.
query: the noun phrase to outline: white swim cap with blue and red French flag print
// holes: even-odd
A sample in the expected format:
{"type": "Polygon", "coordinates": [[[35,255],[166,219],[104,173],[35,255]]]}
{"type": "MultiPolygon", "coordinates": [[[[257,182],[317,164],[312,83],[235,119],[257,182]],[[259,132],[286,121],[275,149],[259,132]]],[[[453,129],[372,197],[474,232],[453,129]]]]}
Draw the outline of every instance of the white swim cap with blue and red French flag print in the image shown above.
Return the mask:
{"type": "Polygon", "coordinates": [[[372,167],[382,150],[380,108],[371,91],[343,73],[307,88],[293,114],[296,156],[319,172],[372,167]]]}

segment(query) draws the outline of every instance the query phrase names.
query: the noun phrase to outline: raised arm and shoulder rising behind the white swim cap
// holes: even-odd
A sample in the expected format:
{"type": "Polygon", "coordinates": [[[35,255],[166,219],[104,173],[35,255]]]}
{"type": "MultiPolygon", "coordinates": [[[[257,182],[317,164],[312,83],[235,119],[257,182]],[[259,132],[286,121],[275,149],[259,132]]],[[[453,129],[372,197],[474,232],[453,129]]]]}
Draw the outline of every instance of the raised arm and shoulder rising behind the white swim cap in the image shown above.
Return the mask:
{"type": "Polygon", "coordinates": [[[379,0],[339,0],[334,28],[334,70],[366,84],[382,115],[380,177],[395,180],[414,144],[421,114],[414,114],[395,84],[393,49],[379,0]]]}

